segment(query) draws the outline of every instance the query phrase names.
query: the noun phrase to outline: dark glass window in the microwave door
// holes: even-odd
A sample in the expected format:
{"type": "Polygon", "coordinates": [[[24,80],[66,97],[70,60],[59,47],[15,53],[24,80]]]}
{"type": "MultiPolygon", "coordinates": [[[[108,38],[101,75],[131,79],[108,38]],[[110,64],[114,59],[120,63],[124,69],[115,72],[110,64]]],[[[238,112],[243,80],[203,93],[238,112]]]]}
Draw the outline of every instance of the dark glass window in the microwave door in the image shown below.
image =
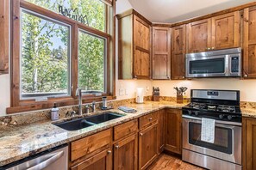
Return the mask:
{"type": "Polygon", "coordinates": [[[190,74],[211,74],[225,72],[225,58],[190,61],[190,74]]]}

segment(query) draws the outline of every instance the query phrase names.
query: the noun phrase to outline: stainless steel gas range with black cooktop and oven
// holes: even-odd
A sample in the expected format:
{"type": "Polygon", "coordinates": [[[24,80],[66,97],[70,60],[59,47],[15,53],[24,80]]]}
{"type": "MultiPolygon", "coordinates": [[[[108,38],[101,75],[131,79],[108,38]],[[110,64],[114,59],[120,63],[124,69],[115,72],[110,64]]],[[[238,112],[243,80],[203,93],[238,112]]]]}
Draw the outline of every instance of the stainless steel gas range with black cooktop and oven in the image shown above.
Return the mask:
{"type": "Polygon", "coordinates": [[[241,170],[240,92],[191,90],[183,110],[182,160],[208,169],[241,170]],[[215,119],[214,143],[201,140],[202,118],[215,119]]]}

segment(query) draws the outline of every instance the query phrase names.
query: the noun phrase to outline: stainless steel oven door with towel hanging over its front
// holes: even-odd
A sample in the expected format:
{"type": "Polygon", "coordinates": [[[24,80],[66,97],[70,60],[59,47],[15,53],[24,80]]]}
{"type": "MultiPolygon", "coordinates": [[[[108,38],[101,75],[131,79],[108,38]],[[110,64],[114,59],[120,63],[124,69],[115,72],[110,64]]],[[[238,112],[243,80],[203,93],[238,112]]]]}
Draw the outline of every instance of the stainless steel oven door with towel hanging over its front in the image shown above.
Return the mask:
{"type": "Polygon", "coordinates": [[[216,120],[214,143],[201,141],[201,118],[183,118],[182,125],[183,149],[188,149],[203,155],[209,155],[224,161],[241,164],[240,125],[230,125],[226,124],[224,121],[216,120]]]}

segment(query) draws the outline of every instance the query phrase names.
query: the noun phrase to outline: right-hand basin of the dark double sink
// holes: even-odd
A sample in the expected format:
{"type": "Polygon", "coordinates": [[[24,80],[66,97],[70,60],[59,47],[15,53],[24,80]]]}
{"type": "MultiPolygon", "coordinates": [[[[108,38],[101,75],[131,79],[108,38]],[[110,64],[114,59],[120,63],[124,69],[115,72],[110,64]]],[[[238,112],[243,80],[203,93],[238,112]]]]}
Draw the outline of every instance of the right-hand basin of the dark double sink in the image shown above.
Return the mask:
{"type": "Polygon", "coordinates": [[[115,112],[106,112],[103,114],[98,114],[95,116],[91,116],[90,118],[86,118],[87,121],[94,123],[94,124],[101,124],[103,122],[107,122],[109,120],[113,120],[115,118],[121,118],[122,114],[117,114],[115,112]]]}

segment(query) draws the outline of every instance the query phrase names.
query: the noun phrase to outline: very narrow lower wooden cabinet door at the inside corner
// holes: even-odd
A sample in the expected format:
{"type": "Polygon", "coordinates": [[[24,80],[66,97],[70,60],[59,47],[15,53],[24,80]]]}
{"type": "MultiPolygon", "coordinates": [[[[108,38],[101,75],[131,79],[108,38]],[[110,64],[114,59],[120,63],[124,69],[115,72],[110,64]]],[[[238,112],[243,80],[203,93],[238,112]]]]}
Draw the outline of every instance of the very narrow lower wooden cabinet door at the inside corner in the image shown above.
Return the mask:
{"type": "Polygon", "coordinates": [[[159,126],[158,126],[158,152],[164,151],[165,147],[165,109],[159,111],[159,126]]]}

